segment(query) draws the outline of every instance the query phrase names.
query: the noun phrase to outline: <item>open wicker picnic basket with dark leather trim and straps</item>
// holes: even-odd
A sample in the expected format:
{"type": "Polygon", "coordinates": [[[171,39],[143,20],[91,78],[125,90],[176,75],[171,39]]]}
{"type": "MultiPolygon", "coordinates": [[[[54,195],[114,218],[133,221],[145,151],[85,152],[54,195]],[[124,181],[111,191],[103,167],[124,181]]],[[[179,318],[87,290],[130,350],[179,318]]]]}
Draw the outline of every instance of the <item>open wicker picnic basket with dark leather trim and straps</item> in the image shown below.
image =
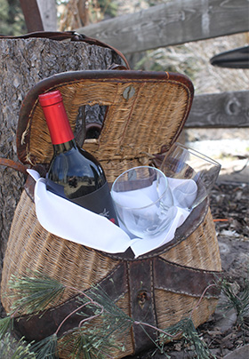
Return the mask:
{"type": "MultiPolygon", "coordinates": [[[[59,89],[73,129],[78,108],[99,104],[108,108],[100,137],[85,140],[84,148],[102,164],[108,181],[135,165],[152,164],[155,154],[170,148],[189,115],[193,87],[185,76],[141,71],[78,71],[52,76],[28,92],[20,110],[17,148],[23,164],[48,164],[52,144],[38,95],[59,89]]],[[[12,307],[8,282],[12,275],[39,270],[61,283],[88,291],[99,283],[116,305],[137,321],[166,327],[179,322],[197,306],[206,287],[221,272],[219,247],[207,201],[191,212],[173,241],[155,251],[133,258],[131,251],[108,254],[68,242],[48,233],[36,219],[34,180],[28,177],[12,221],[4,257],[2,301],[12,307]]],[[[101,239],[100,239],[101,240],[101,239]]],[[[211,287],[193,312],[196,326],[213,314],[219,294],[211,287]]],[[[16,328],[27,339],[43,339],[56,331],[60,320],[76,308],[75,292],[66,291],[45,314],[26,317],[16,328]],[[36,328],[36,331],[34,331],[36,328]]],[[[60,334],[78,323],[77,315],[60,334]]],[[[155,339],[154,331],[149,335],[155,339]]],[[[138,326],[116,339],[133,355],[153,346],[138,326]]],[[[60,351],[68,358],[68,351],[60,351]]]]}

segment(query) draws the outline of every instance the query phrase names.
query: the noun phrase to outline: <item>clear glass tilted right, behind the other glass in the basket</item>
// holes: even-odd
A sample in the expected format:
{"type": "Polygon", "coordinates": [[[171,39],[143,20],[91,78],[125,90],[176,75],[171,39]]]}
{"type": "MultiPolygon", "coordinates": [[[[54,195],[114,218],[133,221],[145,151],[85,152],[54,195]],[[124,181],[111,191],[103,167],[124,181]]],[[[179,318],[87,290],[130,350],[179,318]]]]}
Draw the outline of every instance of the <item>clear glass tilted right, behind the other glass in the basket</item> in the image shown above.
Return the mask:
{"type": "Polygon", "coordinates": [[[170,182],[175,204],[193,209],[210,194],[221,164],[176,142],[165,155],[160,169],[170,182]]]}

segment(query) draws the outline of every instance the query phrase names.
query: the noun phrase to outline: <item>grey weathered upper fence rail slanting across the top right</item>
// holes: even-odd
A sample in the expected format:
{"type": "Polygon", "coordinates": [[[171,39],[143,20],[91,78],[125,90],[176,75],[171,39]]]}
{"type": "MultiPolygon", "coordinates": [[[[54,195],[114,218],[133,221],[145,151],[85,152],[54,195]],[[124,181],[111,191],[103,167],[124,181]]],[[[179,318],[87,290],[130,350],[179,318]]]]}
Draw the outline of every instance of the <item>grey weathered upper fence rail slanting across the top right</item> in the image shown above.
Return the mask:
{"type": "Polygon", "coordinates": [[[246,32],[248,10],[247,0],[172,0],[76,31],[127,54],[246,32]]]}

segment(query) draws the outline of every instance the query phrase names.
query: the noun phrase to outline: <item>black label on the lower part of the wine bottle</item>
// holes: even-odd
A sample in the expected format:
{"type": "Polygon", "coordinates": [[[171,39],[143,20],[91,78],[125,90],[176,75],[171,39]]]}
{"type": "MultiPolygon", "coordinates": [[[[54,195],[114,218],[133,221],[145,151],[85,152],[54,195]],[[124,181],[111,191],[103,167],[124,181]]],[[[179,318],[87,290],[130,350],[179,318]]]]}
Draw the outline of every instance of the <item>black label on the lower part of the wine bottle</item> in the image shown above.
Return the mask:
{"type": "MultiPolygon", "coordinates": [[[[68,199],[64,194],[63,186],[54,183],[52,180],[46,180],[46,187],[55,195],[60,195],[61,197],[68,199]]],[[[109,193],[108,182],[88,195],[82,195],[81,197],[68,199],[68,201],[76,203],[89,211],[100,214],[100,216],[106,217],[118,225],[116,211],[109,193]]]]}

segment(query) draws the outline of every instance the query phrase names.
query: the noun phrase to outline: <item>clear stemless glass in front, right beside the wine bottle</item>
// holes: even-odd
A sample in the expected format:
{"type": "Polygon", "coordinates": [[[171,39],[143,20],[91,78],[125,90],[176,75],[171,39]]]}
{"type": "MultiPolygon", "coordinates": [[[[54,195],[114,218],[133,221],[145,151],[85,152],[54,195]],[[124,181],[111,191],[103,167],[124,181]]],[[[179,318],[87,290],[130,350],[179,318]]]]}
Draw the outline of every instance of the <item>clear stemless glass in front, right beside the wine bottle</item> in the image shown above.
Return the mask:
{"type": "Polygon", "coordinates": [[[153,237],[170,222],[173,196],[165,174],[155,167],[125,171],[114,181],[111,195],[120,224],[138,237],[153,237]]]}

